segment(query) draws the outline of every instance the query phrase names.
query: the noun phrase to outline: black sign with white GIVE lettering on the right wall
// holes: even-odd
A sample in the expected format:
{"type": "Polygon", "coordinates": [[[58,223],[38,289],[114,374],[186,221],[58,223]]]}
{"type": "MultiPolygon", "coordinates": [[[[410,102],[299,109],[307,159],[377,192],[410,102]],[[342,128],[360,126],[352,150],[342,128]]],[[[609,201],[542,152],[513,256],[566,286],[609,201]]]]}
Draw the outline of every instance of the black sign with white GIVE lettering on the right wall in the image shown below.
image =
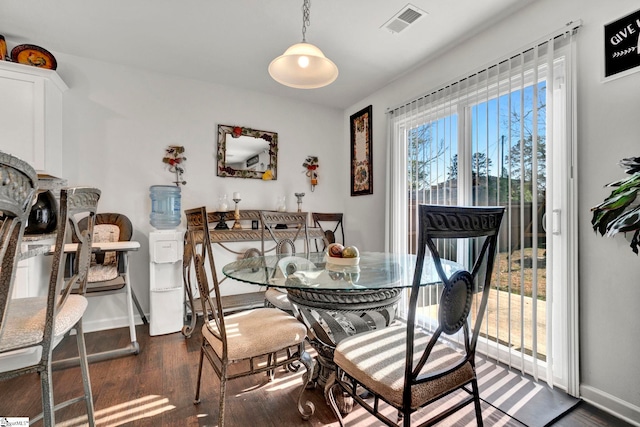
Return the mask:
{"type": "Polygon", "coordinates": [[[640,71],[640,10],[604,26],[604,78],[640,71]]]}

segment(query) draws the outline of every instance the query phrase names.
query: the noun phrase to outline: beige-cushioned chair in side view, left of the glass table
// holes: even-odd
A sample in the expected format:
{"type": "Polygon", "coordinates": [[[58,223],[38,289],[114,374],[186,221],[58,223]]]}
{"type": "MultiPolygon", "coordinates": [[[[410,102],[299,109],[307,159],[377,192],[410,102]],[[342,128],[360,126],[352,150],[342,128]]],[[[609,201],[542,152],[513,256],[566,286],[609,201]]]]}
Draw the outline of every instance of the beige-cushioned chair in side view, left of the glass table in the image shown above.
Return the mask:
{"type": "Polygon", "coordinates": [[[278,367],[302,362],[307,372],[302,376],[298,395],[298,411],[308,419],[315,407],[302,394],[313,373],[314,362],[304,349],[307,328],[282,310],[257,308],[231,315],[224,313],[220,284],[213,260],[207,211],[204,207],[185,211],[187,242],[191,246],[200,300],[205,317],[196,385],[195,403],[200,403],[202,365],[206,357],[220,380],[218,426],[224,426],[225,391],[228,380],[260,372],[270,378],[278,367]],[[200,236],[202,238],[200,239],[200,236]],[[198,244],[198,241],[202,241],[198,244]],[[233,365],[233,367],[231,367],[233,365]]]}

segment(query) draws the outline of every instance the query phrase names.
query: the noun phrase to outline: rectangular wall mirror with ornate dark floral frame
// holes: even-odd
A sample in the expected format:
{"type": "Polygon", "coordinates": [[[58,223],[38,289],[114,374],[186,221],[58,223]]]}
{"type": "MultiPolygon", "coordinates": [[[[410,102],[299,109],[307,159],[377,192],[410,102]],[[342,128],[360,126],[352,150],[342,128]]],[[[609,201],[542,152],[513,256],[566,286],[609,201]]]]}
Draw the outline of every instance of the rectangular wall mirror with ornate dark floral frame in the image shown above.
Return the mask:
{"type": "Polygon", "coordinates": [[[218,176],[277,179],[278,134],[218,125],[218,176]]]}

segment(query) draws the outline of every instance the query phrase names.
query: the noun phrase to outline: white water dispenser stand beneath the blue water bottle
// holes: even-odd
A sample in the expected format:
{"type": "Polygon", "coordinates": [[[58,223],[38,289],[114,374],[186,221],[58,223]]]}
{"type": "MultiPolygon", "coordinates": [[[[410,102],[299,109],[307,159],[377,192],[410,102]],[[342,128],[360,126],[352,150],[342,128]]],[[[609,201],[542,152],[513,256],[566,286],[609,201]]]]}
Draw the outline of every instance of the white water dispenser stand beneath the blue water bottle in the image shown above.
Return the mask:
{"type": "Polygon", "coordinates": [[[182,330],[184,290],[182,287],[183,235],[181,230],[149,233],[150,335],[182,330]]]}

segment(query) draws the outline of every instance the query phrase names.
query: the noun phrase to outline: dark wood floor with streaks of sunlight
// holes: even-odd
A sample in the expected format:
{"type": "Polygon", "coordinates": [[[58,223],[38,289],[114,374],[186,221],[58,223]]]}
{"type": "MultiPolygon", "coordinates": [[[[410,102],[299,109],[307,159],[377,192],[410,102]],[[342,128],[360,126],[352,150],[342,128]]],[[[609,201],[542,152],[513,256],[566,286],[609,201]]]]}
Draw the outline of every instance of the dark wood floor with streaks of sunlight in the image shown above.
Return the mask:
{"type": "MultiPolygon", "coordinates": [[[[147,326],[138,326],[140,354],[90,365],[96,421],[99,426],[215,426],[218,416],[218,380],[205,367],[201,403],[193,404],[199,358],[199,333],[185,339],[181,334],[150,337],[147,326]]],[[[128,329],[87,334],[90,352],[124,346],[128,329]]],[[[73,355],[75,339],[65,338],[57,357],[73,355]]],[[[234,426],[337,426],[320,390],[305,391],[315,414],[303,421],[295,409],[300,373],[279,372],[273,383],[264,376],[252,376],[228,383],[226,425],[234,426]]],[[[82,393],[78,368],[54,373],[56,401],[82,393]]],[[[41,409],[40,381],[27,375],[0,383],[0,417],[34,417],[41,409]]],[[[464,411],[462,411],[464,412],[464,411]]],[[[86,425],[82,404],[57,413],[58,426],[86,425]]],[[[523,424],[483,403],[485,425],[522,427],[523,424]]],[[[41,423],[39,423],[41,424],[41,423]]],[[[361,408],[346,418],[349,427],[379,425],[361,408]]],[[[442,426],[472,426],[472,409],[442,426]]],[[[586,403],[553,424],[556,427],[629,426],[586,403]]]]}

